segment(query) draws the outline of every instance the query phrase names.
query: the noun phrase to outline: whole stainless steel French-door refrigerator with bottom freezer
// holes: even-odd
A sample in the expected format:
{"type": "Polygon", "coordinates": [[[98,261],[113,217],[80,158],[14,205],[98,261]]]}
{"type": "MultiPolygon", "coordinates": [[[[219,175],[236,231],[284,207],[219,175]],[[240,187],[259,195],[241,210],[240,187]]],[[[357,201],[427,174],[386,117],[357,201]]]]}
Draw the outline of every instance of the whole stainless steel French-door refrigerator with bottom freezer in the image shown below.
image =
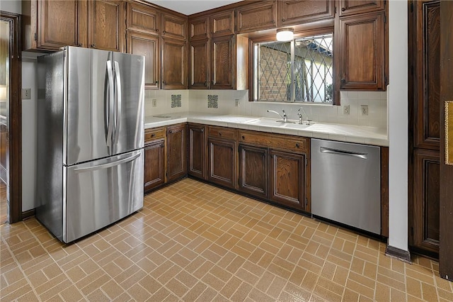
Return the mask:
{"type": "Polygon", "coordinates": [[[36,217],[71,242],[143,207],[144,57],[38,57],[36,217]]]}

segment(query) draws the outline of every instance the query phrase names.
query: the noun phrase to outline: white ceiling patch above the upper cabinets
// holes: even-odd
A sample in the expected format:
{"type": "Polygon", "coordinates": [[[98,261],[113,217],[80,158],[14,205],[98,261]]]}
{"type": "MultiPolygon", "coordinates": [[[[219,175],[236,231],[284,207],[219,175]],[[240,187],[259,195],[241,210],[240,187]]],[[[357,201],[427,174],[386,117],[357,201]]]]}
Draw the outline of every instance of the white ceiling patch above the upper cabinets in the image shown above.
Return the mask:
{"type": "Polygon", "coordinates": [[[200,13],[200,11],[207,11],[209,9],[215,9],[220,6],[239,2],[241,0],[147,0],[152,4],[171,9],[172,11],[178,11],[185,15],[191,15],[193,13],[200,13]]]}

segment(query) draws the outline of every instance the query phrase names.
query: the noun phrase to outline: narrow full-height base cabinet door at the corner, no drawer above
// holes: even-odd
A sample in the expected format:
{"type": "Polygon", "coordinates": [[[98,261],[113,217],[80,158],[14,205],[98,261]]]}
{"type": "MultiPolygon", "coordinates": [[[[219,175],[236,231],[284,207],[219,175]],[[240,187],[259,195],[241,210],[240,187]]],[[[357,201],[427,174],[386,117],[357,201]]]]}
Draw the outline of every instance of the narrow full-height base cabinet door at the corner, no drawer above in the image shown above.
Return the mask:
{"type": "Polygon", "coordinates": [[[206,132],[205,125],[188,125],[188,174],[206,179],[206,132]]]}

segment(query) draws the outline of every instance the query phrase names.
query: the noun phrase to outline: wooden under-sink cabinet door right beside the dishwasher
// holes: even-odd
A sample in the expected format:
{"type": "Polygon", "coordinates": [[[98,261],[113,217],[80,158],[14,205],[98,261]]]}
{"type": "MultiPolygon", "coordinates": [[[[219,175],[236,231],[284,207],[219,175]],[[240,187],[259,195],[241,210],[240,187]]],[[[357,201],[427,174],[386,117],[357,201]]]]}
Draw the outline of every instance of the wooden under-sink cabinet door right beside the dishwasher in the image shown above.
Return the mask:
{"type": "Polygon", "coordinates": [[[270,200],[305,210],[306,155],[270,150],[270,200]]]}

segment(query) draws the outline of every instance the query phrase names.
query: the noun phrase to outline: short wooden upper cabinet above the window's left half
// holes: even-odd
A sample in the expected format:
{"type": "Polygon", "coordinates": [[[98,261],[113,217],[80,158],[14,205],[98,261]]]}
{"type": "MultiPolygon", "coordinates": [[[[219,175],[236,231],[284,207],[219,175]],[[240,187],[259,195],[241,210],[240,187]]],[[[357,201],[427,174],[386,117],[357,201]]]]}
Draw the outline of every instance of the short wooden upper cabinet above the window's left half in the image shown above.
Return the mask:
{"type": "Polygon", "coordinates": [[[277,27],[277,1],[262,1],[236,9],[236,33],[277,27]]]}

